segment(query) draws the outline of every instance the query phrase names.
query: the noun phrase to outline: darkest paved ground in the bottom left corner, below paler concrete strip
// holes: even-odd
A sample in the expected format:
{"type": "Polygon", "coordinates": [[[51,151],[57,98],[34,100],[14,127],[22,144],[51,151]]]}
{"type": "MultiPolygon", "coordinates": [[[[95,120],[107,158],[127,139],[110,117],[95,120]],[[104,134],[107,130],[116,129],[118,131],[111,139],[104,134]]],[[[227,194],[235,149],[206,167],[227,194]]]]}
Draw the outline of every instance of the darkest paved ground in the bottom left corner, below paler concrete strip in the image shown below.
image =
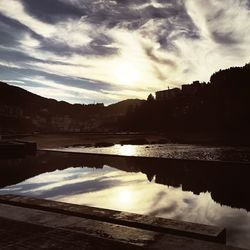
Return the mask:
{"type": "MultiPolygon", "coordinates": [[[[27,210],[27,213],[29,213],[29,209],[27,210]]],[[[149,248],[129,242],[105,239],[84,232],[52,228],[1,217],[0,225],[1,250],[149,250],[149,248]]]]}

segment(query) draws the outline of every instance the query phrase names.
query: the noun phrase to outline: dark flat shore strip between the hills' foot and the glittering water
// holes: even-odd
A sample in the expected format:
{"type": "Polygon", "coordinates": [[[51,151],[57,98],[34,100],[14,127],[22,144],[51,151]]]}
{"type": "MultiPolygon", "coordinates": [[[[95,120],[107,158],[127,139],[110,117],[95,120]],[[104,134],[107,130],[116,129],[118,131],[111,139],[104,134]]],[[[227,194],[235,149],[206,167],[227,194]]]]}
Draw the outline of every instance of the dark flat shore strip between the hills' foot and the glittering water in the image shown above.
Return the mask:
{"type": "Polygon", "coordinates": [[[115,144],[121,145],[149,145],[149,144],[193,144],[202,146],[233,146],[250,147],[247,143],[236,141],[229,142],[223,138],[215,138],[210,135],[179,135],[167,136],[163,133],[53,133],[53,134],[26,134],[3,136],[6,139],[21,139],[34,141],[38,149],[51,147],[71,146],[96,146],[108,147],[115,144]]]}

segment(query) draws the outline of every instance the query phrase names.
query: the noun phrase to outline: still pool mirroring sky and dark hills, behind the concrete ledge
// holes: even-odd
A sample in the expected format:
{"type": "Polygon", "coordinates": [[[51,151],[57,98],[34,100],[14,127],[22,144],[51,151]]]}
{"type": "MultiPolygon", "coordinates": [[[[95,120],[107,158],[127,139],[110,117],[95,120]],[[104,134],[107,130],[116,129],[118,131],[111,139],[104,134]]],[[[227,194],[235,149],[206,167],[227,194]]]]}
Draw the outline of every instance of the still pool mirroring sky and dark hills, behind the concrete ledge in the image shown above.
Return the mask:
{"type": "Polygon", "coordinates": [[[0,194],[218,225],[250,249],[249,164],[39,152],[0,166],[0,194]]]}

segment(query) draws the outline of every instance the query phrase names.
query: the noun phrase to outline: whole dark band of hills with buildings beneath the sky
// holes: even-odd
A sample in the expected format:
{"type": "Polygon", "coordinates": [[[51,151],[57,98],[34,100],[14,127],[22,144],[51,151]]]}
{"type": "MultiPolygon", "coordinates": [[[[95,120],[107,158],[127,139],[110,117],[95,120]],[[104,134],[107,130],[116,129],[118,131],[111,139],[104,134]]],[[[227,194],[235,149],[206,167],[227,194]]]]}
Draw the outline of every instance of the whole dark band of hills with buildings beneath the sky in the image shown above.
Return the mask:
{"type": "Polygon", "coordinates": [[[0,83],[0,134],[160,132],[250,141],[249,65],[220,70],[209,83],[194,81],[109,106],[69,104],[0,83]]]}

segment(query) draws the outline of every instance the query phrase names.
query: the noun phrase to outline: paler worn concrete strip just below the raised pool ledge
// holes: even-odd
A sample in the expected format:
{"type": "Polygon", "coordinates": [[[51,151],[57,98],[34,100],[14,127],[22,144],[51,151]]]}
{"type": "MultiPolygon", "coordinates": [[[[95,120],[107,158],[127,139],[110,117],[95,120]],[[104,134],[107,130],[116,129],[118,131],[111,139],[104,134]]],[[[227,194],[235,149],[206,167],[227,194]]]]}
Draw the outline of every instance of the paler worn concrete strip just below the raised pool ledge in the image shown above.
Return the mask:
{"type": "MultiPolygon", "coordinates": [[[[96,241],[107,239],[136,246],[149,246],[164,236],[162,233],[154,231],[7,204],[0,204],[0,225],[2,228],[1,220],[8,220],[9,227],[16,227],[17,223],[21,223],[21,225],[26,223],[27,227],[30,225],[32,227],[46,227],[47,231],[64,230],[80,233],[83,236],[96,237],[96,241]]],[[[11,237],[14,238],[15,235],[11,237]]],[[[3,239],[0,237],[0,242],[2,241],[3,239]]],[[[0,249],[2,250],[1,243],[0,249]]]]}

